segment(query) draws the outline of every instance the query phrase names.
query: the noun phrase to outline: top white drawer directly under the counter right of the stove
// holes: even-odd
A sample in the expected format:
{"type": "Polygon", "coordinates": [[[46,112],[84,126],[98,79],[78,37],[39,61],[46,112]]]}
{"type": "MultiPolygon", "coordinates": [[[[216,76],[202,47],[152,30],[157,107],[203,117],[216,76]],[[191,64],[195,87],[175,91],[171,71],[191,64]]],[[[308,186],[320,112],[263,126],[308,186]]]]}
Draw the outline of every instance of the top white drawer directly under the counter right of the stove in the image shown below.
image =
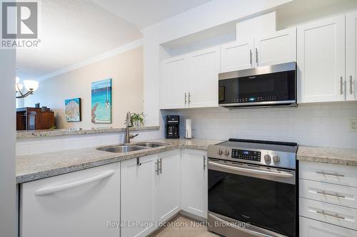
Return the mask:
{"type": "Polygon", "coordinates": [[[357,167],[316,162],[300,162],[299,166],[301,179],[357,187],[357,167]]]}

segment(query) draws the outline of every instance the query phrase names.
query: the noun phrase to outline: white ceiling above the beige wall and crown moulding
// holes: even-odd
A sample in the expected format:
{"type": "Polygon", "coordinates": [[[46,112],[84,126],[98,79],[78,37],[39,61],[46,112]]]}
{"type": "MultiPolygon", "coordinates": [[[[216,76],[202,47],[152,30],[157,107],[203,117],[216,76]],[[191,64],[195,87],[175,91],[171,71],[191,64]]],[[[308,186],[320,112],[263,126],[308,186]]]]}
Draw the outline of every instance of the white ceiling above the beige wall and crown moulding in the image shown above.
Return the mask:
{"type": "Polygon", "coordinates": [[[19,49],[17,75],[36,79],[142,37],[140,29],[210,0],[41,1],[37,49],[19,49]]]}

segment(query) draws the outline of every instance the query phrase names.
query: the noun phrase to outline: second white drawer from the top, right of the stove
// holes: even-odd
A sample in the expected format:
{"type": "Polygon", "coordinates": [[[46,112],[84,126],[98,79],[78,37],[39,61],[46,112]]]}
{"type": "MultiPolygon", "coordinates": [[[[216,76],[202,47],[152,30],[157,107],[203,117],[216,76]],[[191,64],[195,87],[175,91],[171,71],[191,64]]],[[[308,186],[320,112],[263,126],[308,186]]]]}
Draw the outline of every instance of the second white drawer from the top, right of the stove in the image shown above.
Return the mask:
{"type": "Polygon", "coordinates": [[[307,179],[299,180],[299,195],[316,201],[325,201],[357,209],[357,188],[328,184],[307,179]]]}

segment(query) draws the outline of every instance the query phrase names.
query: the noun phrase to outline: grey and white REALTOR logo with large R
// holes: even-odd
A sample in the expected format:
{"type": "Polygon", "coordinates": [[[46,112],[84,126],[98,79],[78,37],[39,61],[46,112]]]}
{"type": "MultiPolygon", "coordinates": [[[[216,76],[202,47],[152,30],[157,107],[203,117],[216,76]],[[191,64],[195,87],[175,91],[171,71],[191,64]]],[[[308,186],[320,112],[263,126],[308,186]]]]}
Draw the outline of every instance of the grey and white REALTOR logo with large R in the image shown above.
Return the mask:
{"type": "Polygon", "coordinates": [[[1,1],[1,48],[39,46],[37,1],[1,1]]]}

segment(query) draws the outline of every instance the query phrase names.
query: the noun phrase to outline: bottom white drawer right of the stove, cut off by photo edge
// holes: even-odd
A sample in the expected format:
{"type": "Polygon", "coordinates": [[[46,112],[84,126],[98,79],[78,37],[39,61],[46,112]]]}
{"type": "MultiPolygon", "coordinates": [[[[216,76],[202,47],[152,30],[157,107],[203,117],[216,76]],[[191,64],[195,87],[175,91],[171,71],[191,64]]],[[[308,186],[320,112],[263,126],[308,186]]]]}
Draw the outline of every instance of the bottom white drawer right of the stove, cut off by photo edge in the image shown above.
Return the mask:
{"type": "Polygon", "coordinates": [[[357,237],[357,231],[300,216],[300,237],[357,237]]]}

